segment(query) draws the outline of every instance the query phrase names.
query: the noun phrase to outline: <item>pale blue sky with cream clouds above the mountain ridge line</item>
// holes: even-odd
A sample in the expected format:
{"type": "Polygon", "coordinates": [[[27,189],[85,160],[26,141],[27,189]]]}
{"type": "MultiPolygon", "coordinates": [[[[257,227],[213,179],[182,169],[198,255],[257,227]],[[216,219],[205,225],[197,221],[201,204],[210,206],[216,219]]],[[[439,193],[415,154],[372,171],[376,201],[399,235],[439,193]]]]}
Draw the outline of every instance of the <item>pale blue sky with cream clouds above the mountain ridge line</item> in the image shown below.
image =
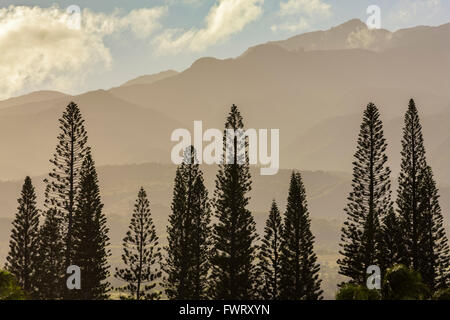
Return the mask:
{"type": "Polygon", "coordinates": [[[450,22],[447,0],[0,0],[0,99],[182,71],[201,57],[365,22],[371,5],[391,31],[450,22]]]}

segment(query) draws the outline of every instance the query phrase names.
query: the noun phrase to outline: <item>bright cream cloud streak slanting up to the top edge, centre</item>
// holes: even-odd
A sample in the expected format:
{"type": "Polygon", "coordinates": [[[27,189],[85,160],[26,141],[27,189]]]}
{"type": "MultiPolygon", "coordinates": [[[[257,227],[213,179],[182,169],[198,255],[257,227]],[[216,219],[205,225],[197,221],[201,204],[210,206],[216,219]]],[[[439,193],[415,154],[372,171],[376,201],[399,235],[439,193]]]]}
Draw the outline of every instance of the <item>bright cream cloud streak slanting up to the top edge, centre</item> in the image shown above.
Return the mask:
{"type": "Polygon", "coordinates": [[[169,29],[155,39],[160,54],[182,50],[202,51],[223,42],[262,14],[264,0],[218,0],[209,11],[202,29],[169,29]]]}

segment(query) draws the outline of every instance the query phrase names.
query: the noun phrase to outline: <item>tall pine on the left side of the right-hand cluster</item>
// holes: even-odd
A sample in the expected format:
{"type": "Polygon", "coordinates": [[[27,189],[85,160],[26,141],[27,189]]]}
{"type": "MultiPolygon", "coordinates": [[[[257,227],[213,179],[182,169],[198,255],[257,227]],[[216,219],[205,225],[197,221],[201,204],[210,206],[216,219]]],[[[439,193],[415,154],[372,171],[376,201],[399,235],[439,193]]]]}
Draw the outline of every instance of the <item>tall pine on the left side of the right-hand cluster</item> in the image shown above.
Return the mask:
{"type": "Polygon", "coordinates": [[[386,146],[378,109],[369,103],[353,162],[353,190],[345,208],[347,219],[342,227],[339,252],[342,259],[338,260],[339,273],[358,284],[365,283],[369,266],[377,265],[382,270],[389,267],[381,265],[384,261],[382,224],[392,209],[386,146]]]}

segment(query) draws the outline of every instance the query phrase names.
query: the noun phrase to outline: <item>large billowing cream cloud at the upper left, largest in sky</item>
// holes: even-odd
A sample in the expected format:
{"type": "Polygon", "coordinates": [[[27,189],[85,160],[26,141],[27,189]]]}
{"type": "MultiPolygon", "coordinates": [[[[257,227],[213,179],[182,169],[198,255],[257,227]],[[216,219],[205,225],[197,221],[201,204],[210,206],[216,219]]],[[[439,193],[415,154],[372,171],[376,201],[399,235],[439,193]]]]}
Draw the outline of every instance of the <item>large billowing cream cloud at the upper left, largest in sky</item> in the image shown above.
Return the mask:
{"type": "Polygon", "coordinates": [[[129,31],[136,37],[148,37],[159,27],[158,19],[165,12],[162,7],[126,15],[116,10],[106,15],[85,9],[77,28],[76,15],[57,6],[0,9],[0,98],[43,84],[70,90],[93,66],[111,66],[106,36],[129,31]]]}

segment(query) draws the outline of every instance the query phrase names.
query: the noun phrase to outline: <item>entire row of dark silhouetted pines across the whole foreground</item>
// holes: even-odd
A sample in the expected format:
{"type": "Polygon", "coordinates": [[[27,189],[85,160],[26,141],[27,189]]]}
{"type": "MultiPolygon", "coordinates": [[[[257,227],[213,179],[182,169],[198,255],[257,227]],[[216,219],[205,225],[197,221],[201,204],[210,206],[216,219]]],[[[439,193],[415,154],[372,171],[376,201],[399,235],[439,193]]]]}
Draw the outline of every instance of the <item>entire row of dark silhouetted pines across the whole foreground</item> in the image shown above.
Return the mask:
{"type": "MultiPolygon", "coordinates": [[[[95,163],[78,106],[70,103],[59,120],[60,134],[45,180],[39,210],[31,179],[23,185],[13,222],[6,269],[35,299],[106,299],[108,228],[95,163]],[[81,268],[81,289],[68,290],[66,269],[81,268]]],[[[225,129],[243,129],[235,105],[225,129]]],[[[122,264],[115,288],[128,299],[322,298],[320,266],[302,177],[293,172],[287,207],[272,202],[259,241],[247,209],[251,176],[248,161],[221,164],[210,199],[193,147],[177,168],[168,244],[161,249],[146,191],[141,188],[123,239],[122,264]]],[[[247,145],[245,147],[248,147],[247,145]]],[[[367,268],[382,273],[395,264],[418,271],[431,292],[450,285],[450,250],[439,196],[425,157],[422,128],[413,100],[405,115],[402,164],[396,207],[392,201],[387,142],[374,104],[364,111],[353,163],[352,191],[345,208],[339,273],[365,285],[367,268]]],[[[228,150],[228,151],[230,151],[228,150]]],[[[226,154],[227,150],[224,150],[226,154]]]]}

